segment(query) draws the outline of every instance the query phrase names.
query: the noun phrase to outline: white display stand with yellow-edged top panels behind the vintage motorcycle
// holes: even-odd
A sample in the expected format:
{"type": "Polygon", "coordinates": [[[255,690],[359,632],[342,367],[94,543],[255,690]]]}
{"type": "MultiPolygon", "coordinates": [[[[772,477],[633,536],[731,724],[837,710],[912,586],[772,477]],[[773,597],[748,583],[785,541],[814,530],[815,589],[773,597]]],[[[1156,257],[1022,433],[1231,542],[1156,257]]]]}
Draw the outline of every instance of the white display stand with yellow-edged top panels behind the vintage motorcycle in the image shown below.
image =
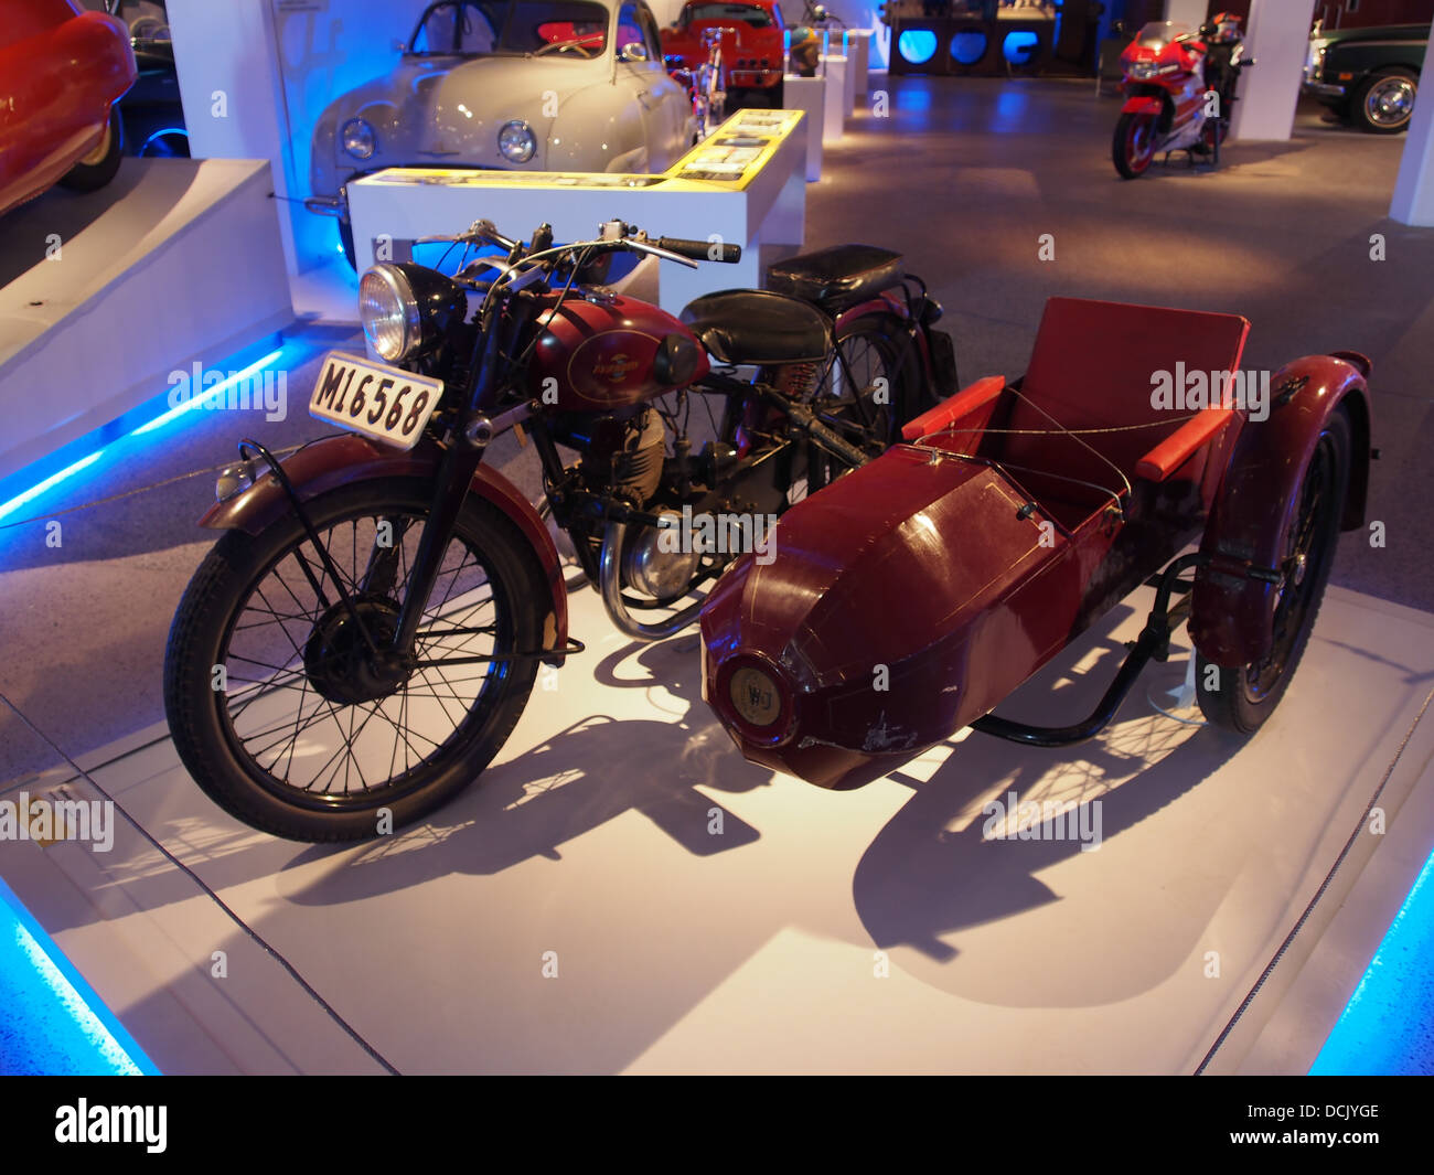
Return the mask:
{"type": "MultiPolygon", "coordinates": [[[[374,241],[391,242],[393,260],[423,237],[452,234],[479,218],[526,238],[541,222],[558,241],[591,238],[621,218],[652,237],[720,238],[743,247],[737,264],[695,270],[663,267],[660,304],[677,313],[714,290],[761,286],[763,245],[800,245],[806,234],[806,118],[800,110],[741,110],[663,175],[391,169],[348,185],[358,268],[373,264],[374,241]],[[776,119],[782,129],[757,141],[744,128],[776,119]],[[753,152],[746,165],[721,156],[753,152]],[[711,162],[716,161],[716,162],[711,162]],[[711,168],[733,166],[730,179],[711,168]]],[[[741,158],[741,156],[739,156],[741,158]]]]}

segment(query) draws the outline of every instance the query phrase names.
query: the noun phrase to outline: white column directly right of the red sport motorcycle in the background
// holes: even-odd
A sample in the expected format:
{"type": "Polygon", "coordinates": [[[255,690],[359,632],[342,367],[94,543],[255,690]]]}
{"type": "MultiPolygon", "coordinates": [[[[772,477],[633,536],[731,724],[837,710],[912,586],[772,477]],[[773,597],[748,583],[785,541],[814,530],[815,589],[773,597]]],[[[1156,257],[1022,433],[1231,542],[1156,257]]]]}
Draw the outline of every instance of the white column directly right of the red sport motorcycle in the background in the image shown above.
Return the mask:
{"type": "Polygon", "coordinates": [[[1315,0],[1255,0],[1250,6],[1245,56],[1255,65],[1242,72],[1230,138],[1289,138],[1314,13],[1315,0]]]}

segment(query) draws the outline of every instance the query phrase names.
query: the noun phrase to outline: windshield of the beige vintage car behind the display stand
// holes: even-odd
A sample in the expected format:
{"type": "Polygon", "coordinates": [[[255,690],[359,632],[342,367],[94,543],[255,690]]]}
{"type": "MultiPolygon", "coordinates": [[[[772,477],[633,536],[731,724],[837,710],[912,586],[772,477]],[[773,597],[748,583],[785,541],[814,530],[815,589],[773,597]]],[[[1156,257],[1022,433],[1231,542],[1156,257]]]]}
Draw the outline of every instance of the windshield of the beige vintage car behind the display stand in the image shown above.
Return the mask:
{"type": "Polygon", "coordinates": [[[539,53],[595,57],[607,49],[608,10],[585,0],[440,0],[409,42],[416,56],[483,57],[539,53]]]}

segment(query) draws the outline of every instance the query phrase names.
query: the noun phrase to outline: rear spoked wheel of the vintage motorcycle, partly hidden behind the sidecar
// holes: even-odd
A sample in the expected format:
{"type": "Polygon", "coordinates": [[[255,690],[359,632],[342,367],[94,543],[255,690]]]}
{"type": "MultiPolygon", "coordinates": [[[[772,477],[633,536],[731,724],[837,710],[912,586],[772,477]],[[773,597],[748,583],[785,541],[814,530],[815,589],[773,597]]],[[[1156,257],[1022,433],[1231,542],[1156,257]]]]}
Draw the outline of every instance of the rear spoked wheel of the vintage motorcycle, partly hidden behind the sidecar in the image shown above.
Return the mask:
{"type": "MultiPolygon", "coordinates": [[[[883,449],[901,426],[916,415],[916,395],[908,373],[915,369],[905,324],[893,314],[863,314],[837,336],[840,359],[833,359],[813,407],[822,420],[859,449],[883,449]]],[[[845,471],[817,445],[810,446],[807,492],[815,494],[845,471]]]]}

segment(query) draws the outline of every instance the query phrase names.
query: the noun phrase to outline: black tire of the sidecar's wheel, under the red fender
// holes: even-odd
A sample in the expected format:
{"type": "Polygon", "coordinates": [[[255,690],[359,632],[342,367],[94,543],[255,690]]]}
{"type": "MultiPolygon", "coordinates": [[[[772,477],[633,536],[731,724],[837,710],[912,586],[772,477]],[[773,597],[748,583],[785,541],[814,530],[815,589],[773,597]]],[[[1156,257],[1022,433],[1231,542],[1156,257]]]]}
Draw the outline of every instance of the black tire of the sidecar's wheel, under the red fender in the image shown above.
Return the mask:
{"type": "Polygon", "coordinates": [[[1275,712],[1299,667],[1334,567],[1349,489],[1351,448],[1349,417],[1336,409],[1299,478],[1299,506],[1286,557],[1302,555],[1305,570],[1281,594],[1271,617],[1275,643],[1269,656],[1258,664],[1222,667],[1196,654],[1196,694],[1200,712],[1213,726],[1253,735],[1275,712]]]}

